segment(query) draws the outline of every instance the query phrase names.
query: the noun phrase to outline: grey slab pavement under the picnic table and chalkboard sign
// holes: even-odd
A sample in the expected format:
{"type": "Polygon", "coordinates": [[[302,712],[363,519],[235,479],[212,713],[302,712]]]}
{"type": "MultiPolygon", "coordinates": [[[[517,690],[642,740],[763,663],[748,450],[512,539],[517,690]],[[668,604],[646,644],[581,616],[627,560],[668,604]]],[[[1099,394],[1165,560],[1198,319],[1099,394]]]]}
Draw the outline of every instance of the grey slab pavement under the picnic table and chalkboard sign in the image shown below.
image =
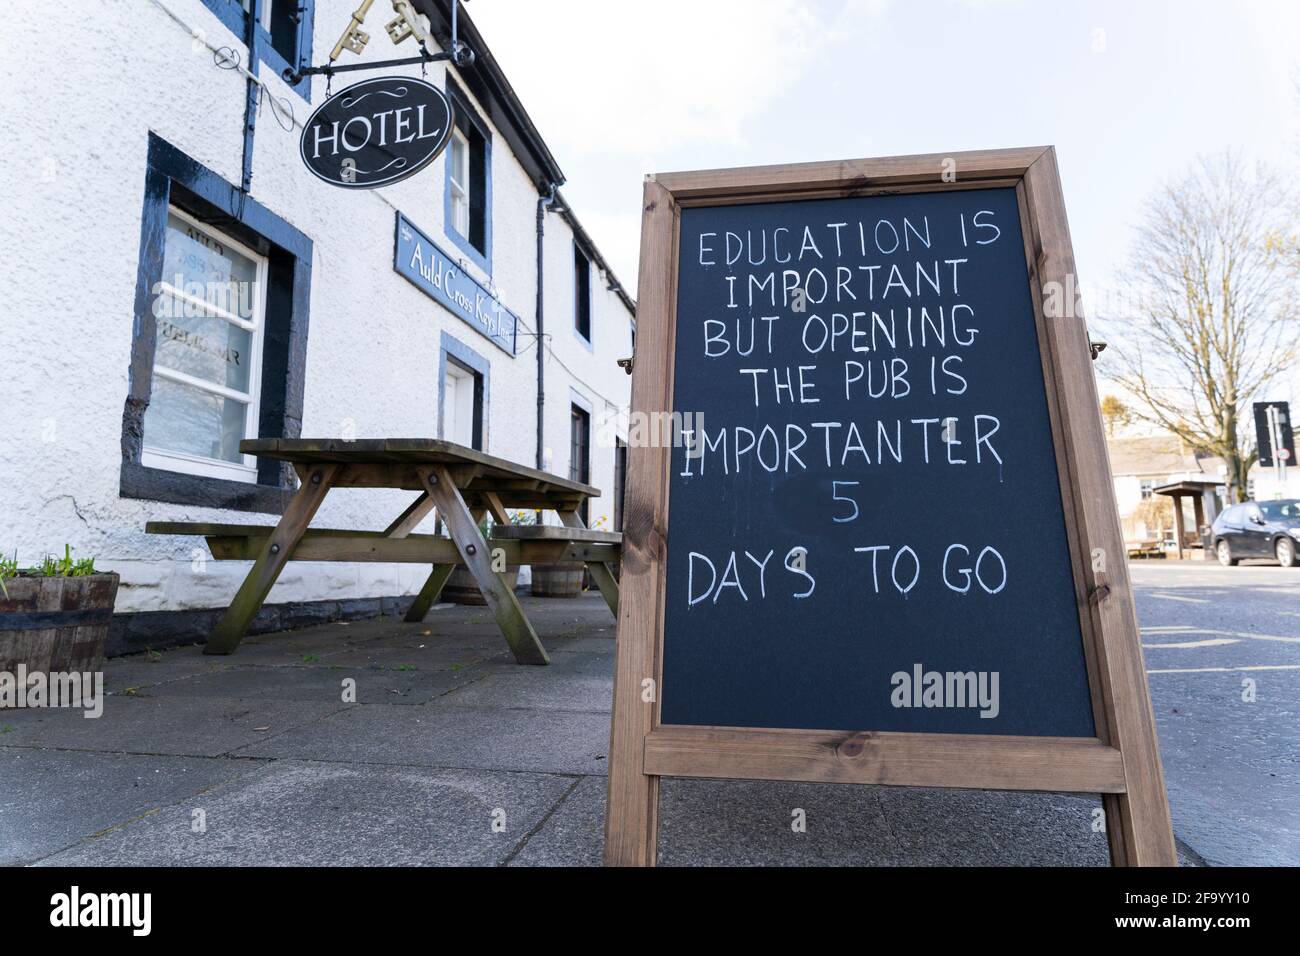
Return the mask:
{"type": "MultiPolygon", "coordinates": [[[[191,646],[112,659],[95,721],[5,711],[0,864],[595,865],[614,620],[594,594],[525,605],[550,667],[516,666],[485,609],[443,606],[422,626],[265,635],[229,658],[191,646]]],[[[666,780],[660,860],[1105,865],[1098,805],[666,780]]]]}

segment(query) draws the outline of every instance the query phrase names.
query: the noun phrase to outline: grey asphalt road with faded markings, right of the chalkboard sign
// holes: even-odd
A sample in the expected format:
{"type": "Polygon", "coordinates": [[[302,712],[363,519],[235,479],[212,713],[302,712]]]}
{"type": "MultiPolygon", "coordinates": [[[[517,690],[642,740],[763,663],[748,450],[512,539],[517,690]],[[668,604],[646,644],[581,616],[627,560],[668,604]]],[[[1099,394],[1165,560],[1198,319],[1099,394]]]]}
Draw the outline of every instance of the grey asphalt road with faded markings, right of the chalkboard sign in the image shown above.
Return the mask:
{"type": "Polygon", "coordinates": [[[1130,564],[1174,832],[1300,865],[1300,568],[1130,564]]]}

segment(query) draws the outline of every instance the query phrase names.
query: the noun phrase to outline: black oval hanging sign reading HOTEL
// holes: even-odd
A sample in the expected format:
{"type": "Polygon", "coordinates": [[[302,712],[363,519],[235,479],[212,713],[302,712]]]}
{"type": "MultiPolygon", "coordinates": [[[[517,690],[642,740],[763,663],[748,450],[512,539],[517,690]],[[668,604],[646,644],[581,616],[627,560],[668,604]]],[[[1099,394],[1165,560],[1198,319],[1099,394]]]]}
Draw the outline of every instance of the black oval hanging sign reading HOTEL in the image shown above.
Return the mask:
{"type": "Polygon", "coordinates": [[[451,139],[447,95],[422,79],[378,77],[341,90],[307,120],[298,151],[318,178],[374,189],[415,176],[451,139]]]}

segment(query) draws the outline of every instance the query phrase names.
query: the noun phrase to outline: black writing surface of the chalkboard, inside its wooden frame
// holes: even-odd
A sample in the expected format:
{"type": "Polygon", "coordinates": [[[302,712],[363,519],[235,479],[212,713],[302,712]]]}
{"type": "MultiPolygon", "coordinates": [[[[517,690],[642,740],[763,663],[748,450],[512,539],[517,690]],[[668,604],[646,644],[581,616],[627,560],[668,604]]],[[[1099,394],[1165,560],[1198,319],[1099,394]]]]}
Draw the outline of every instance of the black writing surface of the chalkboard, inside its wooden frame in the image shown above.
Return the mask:
{"type": "Polygon", "coordinates": [[[1014,189],[681,211],[664,724],[1095,735],[1014,189]]]}

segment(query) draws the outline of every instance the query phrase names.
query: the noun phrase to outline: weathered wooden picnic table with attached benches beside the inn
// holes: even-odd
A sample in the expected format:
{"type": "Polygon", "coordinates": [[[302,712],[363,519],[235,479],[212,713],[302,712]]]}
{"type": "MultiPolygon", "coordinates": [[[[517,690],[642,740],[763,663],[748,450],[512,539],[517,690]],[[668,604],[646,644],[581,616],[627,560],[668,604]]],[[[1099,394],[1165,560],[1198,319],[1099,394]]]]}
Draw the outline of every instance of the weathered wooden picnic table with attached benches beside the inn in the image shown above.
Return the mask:
{"type": "Polygon", "coordinates": [[[415,622],[428,614],[456,564],[464,564],[520,663],[549,663],[550,658],[504,579],[506,564],[581,561],[618,617],[614,568],[623,536],[586,528],[580,511],[584,501],[601,494],[598,488],[433,438],[252,438],[242,441],[239,450],[289,462],[298,472],[299,488],[278,524],[146,525],[155,535],[202,535],[218,561],[254,562],[208,637],[205,654],[229,654],[239,645],[290,561],[432,564],[406,615],[415,622]],[[382,531],[308,528],[325,496],[337,488],[398,488],[419,494],[382,531]],[[555,511],[560,527],[515,525],[506,509],[555,511]],[[434,514],[450,537],[412,533],[434,514]],[[497,522],[490,540],[478,529],[485,514],[497,522]]]}

